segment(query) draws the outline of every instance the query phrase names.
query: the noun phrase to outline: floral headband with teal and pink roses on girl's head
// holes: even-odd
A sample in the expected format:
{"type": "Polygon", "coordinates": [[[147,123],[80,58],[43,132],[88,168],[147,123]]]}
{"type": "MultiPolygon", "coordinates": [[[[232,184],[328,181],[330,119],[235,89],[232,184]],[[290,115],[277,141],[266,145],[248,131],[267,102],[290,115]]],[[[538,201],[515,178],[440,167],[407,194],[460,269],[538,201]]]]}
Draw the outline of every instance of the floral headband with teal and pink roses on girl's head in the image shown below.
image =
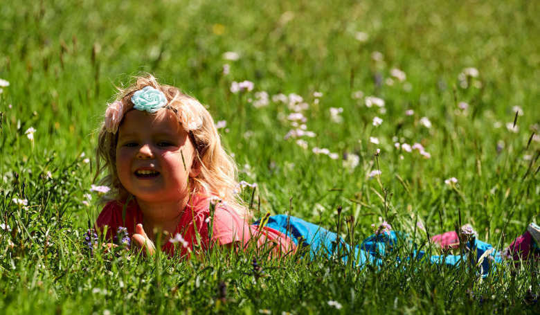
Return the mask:
{"type": "MultiPolygon", "coordinates": [[[[146,86],[133,93],[132,103],[134,109],[154,114],[158,109],[167,105],[167,98],[165,98],[165,94],[162,91],[146,86]]],[[[105,129],[107,129],[107,132],[116,134],[123,116],[124,105],[122,102],[117,100],[110,104],[107,107],[107,111],[105,111],[105,129]]]]}

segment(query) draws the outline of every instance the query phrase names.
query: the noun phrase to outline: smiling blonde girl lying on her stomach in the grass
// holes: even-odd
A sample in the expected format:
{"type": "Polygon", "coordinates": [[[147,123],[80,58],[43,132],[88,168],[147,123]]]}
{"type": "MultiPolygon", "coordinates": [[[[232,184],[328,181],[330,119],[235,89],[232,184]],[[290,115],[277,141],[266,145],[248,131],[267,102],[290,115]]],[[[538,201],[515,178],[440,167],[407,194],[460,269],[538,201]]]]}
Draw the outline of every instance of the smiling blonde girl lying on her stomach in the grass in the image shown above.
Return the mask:
{"type": "MultiPolygon", "coordinates": [[[[107,107],[97,159],[96,177],[107,172],[104,183],[113,192],[96,222],[109,240],[125,227],[134,244],[148,253],[156,250],[158,235],[163,235],[161,250],[170,255],[175,253],[174,242],[181,244],[180,255],[215,245],[243,248],[248,242],[271,246],[274,255],[291,253],[300,245],[309,245],[311,255],[319,251],[332,255],[340,246],[350,250],[336,233],[296,217],[275,215],[249,224],[251,215],[236,193],[235,163],[224,151],[212,117],[195,98],[159,84],[152,75],[120,89],[107,107]]],[[[514,258],[534,251],[531,233],[538,233],[536,228],[521,237],[525,242],[514,242],[510,252],[518,255],[514,258]]],[[[390,230],[388,224],[379,226],[352,251],[357,264],[381,263],[380,254],[399,239],[399,233],[390,230]]],[[[449,247],[460,236],[445,233],[433,241],[449,247]]],[[[491,257],[485,260],[486,272],[490,261],[502,259],[487,243],[474,240],[468,245],[476,248],[477,259],[484,253],[491,257]]],[[[431,256],[430,261],[458,264],[460,258],[431,256]]]]}

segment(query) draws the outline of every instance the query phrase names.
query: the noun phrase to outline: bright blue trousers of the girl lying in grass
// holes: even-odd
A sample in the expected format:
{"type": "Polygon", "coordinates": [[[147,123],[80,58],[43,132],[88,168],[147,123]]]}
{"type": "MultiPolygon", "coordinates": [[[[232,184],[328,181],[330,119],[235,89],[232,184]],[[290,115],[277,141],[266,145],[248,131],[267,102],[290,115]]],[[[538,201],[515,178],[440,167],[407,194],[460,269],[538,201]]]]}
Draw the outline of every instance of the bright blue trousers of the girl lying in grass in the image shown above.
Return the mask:
{"type": "MultiPolygon", "coordinates": [[[[255,222],[254,224],[259,224],[255,222]]],[[[330,232],[321,226],[304,221],[298,217],[291,217],[288,215],[272,215],[269,217],[266,224],[269,228],[273,228],[281,233],[287,235],[293,240],[296,246],[309,246],[309,254],[311,258],[315,255],[324,253],[327,257],[332,257],[338,252],[338,244],[340,253],[350,253],[350,246],[340,238],[336,233],[330,232]]],[[[359,246],[354,249],[355,261],[359,267],[364,267],[368,262],[375,266],[380,266],[383,261],[382,258],[392,251],[395,246],[400,246],[404,242],[410,242],[406,239],[404,233],[390,231],[390,233],[381,233],[379,235],[370,235],[359,246]]],[[[467,244],[469,249],[472,244],[467,244]]],[[[482,242],[480,240],[474,240],[474,246],[476,247],[476,260],[482,257],[482,255],[493,249],[491,244],[482,242]]],[[[426,253],[424,251],[413,251],[413,257],[416,259],[424,258],[426,253]]],[[[343,261],[347,261],[347,255],[342,256],[343,261]]],[[[467,261],[467,255],[431,255],[429,261],[433,264],[446,264],[448,266],[459,266],[461,261],[467,261]]],[[[494,270],[494,263],[502,261],[501,253],[498,251],[492,251],[486,255],[480,264],[480,272],[483,276],[487,276],[490,270],[494,270]]]]}

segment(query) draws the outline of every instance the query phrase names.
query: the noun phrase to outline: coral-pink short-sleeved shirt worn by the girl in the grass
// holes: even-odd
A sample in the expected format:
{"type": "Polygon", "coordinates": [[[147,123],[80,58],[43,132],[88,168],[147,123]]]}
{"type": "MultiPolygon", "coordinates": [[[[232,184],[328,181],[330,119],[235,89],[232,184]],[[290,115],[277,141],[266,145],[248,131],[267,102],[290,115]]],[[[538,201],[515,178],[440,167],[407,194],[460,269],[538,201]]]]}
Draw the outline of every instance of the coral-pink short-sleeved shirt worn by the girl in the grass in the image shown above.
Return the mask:
{"type": "MultiPolygon", "coordinates": [[[[107,239],[112,240],[119,226],[127,228],[131,237],[135,231],[136,224],[143,223],[143,213],[135,200],[132,200],[125,206],[125,222],[123,219],[124,204],[120,201],[110,201],[103,210],[101,210],[96,227],[98,231],[107,228],[107,239]]],[[[291,253],[295,249],[294,242],[287,235],[264,226],[259,229],[258,226],[247,224],[233,209],[224,204],[217,204],[212,219],[210,217],[210,199],[208,197],[197,195],[192,197],[186,208],[181,213],[180,223],[172,235],[180,233],[186,240],[187,246],[181,244],[177,248],[181,255],[187,255],[189,251],[198,251],[208,249],[208,245],[213,244],[242,244],[243,248],[248,242],[256,242],[258,249],[270,249],[273,255],[282,255],[291,253]],[[212,240],[209,242],[208,230],[213,222],[212,240]],[[197,241],[197,233],[199,240],[197,241]],[[189,250],[188,250],[189,249],[189,250]]],[[[165,242],[161,247],[163,251],[174,254],[174,244],[165,242]]]]}

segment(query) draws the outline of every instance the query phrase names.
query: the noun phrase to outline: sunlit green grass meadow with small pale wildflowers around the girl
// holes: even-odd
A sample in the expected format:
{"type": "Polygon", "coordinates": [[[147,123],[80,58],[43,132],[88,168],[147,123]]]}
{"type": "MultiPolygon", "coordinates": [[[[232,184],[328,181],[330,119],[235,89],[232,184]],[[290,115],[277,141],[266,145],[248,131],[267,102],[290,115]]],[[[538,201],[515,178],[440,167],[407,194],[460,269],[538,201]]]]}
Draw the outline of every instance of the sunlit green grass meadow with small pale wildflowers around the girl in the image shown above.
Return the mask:
{"type": "Polygon", "coordinates": [[[525,0],[4,1],[1,312],[538,314],[537,262],[482,278],[397,258],[456,225],[503,249],[539,222],[539,16],[525,0]],[[257,184],[241,192],[254,218],[350,244],[386,221],[415,246],[362,269],[91,253],[96,132],[145,71],[208,107],[257,184]]]}

